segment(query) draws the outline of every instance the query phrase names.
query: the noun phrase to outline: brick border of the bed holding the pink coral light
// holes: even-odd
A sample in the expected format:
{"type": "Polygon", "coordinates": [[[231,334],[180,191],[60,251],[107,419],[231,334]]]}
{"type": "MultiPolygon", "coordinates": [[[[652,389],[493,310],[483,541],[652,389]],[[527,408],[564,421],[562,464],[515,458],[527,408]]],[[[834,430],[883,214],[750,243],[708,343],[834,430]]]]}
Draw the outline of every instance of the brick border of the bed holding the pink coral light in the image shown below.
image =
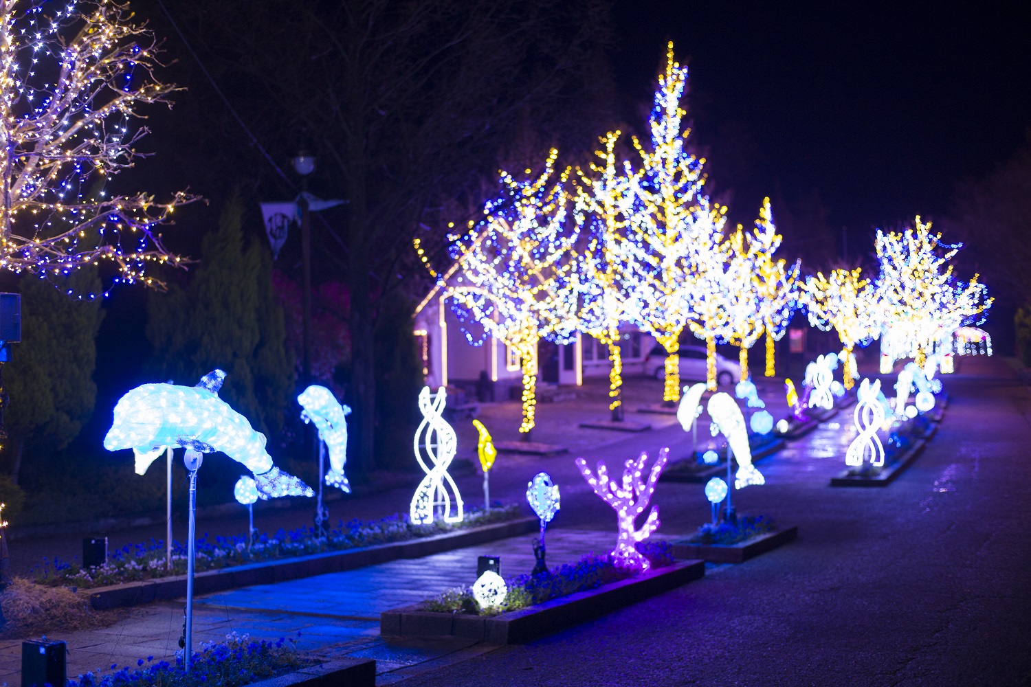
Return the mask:
{"type": "Polygon", "coordinates": [[[601,617],[705,575],[705,561],[684,560],[640,577],[554,598],[497,616],[431,613],[420,605],[379,614],[383,637],[460,637],[488,644],[523,644],[601,617]]]}

